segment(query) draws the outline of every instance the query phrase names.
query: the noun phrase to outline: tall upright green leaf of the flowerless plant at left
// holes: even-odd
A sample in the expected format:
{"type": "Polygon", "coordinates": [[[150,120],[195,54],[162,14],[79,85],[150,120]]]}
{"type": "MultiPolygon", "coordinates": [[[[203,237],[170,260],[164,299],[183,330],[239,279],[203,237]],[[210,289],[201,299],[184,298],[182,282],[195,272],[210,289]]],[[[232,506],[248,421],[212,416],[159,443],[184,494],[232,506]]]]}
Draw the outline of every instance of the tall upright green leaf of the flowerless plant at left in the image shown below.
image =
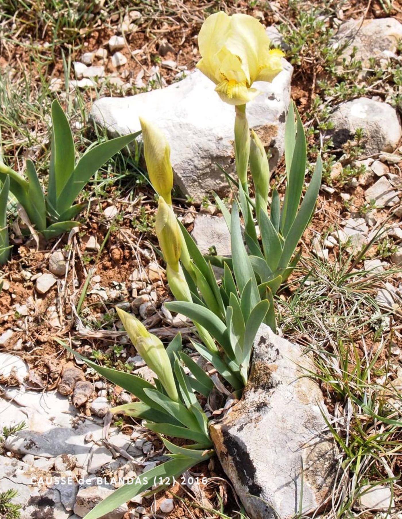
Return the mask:
{"type": "Polygon", "coordinates": [[[52,206],[58,209],[58,198],[74,171],[75,151],[73,133],[71,133],[68,119],[56,99],[52,102],[51,112],[52,142],[48,198],[52,206]]]}

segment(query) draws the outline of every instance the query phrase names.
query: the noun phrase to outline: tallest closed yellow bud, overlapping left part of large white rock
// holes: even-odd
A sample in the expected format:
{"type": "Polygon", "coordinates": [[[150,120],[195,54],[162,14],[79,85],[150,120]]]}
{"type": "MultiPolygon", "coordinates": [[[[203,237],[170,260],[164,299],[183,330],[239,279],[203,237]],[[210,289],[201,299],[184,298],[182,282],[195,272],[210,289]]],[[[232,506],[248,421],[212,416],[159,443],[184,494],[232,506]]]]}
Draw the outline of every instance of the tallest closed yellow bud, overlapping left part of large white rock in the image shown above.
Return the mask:
{"type": "Polygon", "coordinates": [[[144,144],[144,156],[149,179],[156,193],[171,205],[173,170],[170,163],[170,146],[164,133],[152,122],[139,118],[144,144]]]}

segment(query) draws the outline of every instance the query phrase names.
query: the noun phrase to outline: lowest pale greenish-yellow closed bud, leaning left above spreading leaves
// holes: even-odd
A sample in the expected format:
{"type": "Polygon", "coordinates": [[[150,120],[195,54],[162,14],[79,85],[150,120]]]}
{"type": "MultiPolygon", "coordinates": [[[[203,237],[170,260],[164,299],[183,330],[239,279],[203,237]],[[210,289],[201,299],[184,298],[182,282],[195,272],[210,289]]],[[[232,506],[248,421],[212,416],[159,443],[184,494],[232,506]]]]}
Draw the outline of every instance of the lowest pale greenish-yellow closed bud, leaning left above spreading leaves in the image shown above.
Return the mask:
{"type": "Polygon", "coordinates": [[[148,367],[155,372],[162,386],[172,400],[179,401],[175,378],[171,369],[170,360],[162,342],[148,332],[146,327],[131,313],[121,308],[116,308],[123,323],[124,330],[132,340],[136,350],[147,363],[148,367]]]}

